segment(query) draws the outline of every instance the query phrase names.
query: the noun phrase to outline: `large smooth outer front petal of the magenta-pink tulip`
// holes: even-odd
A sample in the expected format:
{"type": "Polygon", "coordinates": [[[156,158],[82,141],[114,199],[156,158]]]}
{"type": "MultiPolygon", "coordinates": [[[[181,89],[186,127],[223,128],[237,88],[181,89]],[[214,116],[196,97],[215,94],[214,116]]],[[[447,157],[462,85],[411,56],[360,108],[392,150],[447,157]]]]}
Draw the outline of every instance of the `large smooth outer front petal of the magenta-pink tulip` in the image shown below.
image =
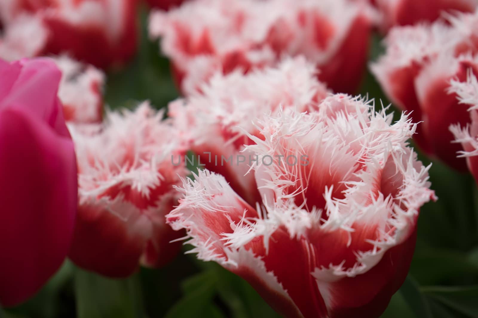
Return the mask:
{"type": "Polygon", "coordinates": [[[31,113],[0,113],[0,299],[15,305],[62,264],[76,214],[76,159],[71,139],[31,113]]]}

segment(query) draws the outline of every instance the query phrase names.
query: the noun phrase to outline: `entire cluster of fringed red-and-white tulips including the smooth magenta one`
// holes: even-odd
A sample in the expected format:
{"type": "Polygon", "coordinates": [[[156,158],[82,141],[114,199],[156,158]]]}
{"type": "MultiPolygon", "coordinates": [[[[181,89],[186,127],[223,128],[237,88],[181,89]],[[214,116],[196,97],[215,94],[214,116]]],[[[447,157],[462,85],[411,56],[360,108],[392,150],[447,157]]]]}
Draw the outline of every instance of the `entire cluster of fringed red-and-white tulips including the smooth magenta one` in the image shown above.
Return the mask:
{"type": "Polygon", "coordinates": [[[0,304],[188,238],[284,317],[380,317],[437,199],[410,140],[478,178],[478,1],[150,0],[182,97],[105,111],[139,2],[0,1],[0,304]]]}

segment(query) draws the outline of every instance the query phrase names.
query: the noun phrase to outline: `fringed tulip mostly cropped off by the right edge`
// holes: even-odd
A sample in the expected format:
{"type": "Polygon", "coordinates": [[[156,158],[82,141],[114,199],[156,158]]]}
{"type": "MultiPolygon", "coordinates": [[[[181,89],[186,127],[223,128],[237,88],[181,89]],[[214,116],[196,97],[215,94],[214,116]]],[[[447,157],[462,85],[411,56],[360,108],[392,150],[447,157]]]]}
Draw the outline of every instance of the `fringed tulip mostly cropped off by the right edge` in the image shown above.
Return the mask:
{"type": "Polygon", "coordinates": [[[471,123],[466,126],[451,125],[450,131],[456,142],[463,146],[459,157],[467,159],[468,168],[478,180],[478,80],[476,75],[468,72],[467,81],[452,81],[449,91],[458,96],[459,103],[468,108],[471,123]]]}

